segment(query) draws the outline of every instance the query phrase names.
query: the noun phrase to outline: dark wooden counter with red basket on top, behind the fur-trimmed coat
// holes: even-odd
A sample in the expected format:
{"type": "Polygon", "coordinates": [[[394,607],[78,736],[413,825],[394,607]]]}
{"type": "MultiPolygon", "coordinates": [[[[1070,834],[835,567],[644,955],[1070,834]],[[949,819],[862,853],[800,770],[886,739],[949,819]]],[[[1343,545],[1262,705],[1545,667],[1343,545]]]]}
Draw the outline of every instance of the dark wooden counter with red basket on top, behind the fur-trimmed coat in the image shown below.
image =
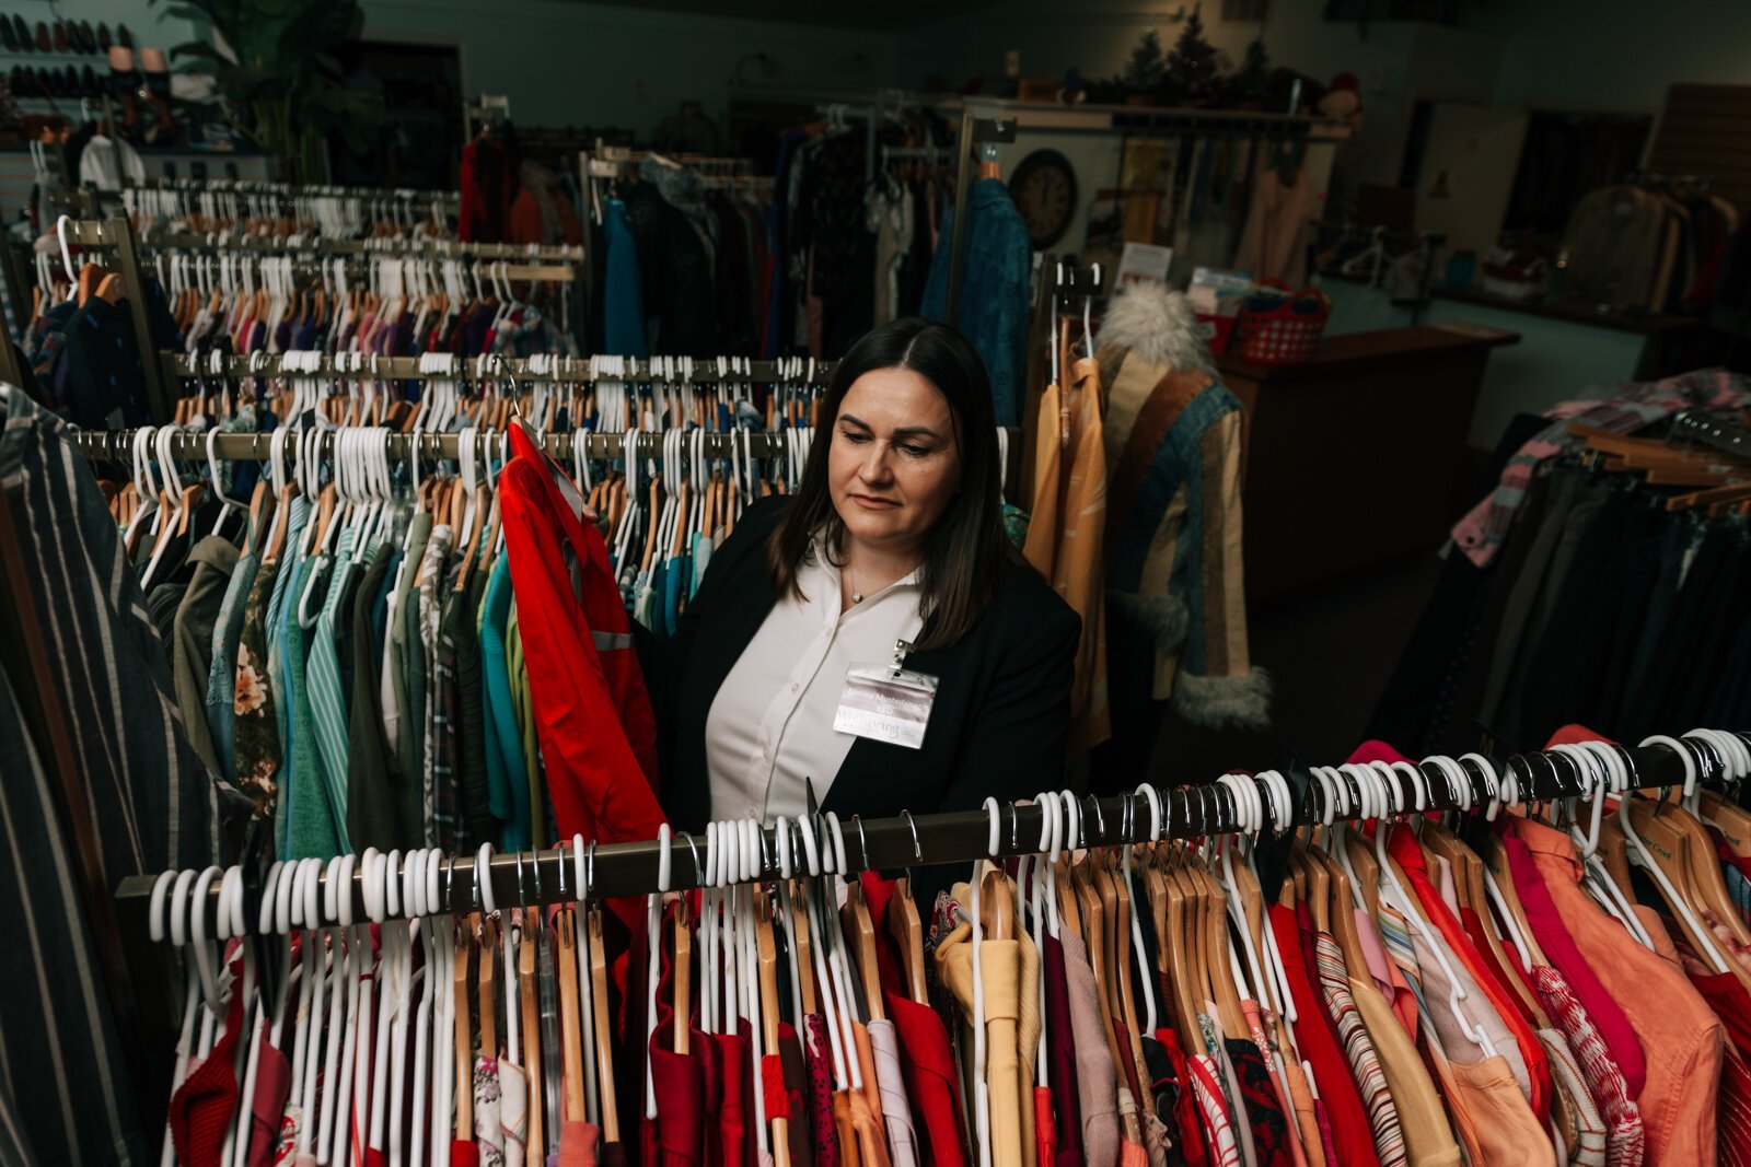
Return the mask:
{"type": "Polygon", "coordinates": [[[1518,339],[1445,324],[1333,336],[1292,366],[1219,359],[1247,408],[1247,598],[1438,548],[1490,350],[1518,339]]]}

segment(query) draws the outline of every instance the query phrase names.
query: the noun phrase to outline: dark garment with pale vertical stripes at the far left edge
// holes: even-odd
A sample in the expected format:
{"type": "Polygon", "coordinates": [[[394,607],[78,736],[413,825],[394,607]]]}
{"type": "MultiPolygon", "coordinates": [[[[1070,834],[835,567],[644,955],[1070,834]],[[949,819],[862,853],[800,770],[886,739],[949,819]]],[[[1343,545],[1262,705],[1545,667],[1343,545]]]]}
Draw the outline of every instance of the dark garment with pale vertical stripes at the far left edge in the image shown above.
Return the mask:
{"type": "MultiPolygon", "coordinates": [[[[96,479],[67,423],[11,385],[0,423],[0,506],[16,534],[0,555],[32,584],[102,880],[217,863],[250,803],[182,737],[165,647],[96,479]]],[[[26,684],[0,670],[0,1162],[149,1162],[159,1132],[140,1127],[121,1045],[140,1036],[117,1029],[56,765],[19,703],[26,684]]]]}

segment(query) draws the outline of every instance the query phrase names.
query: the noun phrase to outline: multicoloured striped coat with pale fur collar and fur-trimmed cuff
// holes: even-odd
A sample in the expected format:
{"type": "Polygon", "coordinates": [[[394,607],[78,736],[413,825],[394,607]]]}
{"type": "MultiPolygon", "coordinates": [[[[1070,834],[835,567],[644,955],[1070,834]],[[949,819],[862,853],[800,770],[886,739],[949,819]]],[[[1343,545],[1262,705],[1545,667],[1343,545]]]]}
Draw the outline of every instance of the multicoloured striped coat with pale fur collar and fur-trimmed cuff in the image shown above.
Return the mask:
{"type": "Polygon", "coordinates": [[[1247,656],[1241,406],[1180,292],[1136,285],[1100,331],[1107,401],[1110,635],[1156,640],[1154,696],[1187,721],[1262,728],[1269,677],[1247,656]]]}

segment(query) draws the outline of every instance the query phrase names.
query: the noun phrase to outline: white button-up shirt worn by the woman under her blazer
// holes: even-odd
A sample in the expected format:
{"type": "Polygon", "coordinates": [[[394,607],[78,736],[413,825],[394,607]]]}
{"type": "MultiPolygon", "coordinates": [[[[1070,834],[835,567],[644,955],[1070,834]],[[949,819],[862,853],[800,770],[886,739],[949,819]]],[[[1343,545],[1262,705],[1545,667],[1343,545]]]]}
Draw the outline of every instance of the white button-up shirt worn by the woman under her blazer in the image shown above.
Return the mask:
{"type": "Polygon", "coordinates": [[[807,779],[825,803],[856,740],[833,730],[846,674],[888,665],[925,626],[916,570],[840,612],[839,569],[816,541],[797,579],[805,598],[779,597],[706,716],[713,819],[797,819],[807,779]]]}

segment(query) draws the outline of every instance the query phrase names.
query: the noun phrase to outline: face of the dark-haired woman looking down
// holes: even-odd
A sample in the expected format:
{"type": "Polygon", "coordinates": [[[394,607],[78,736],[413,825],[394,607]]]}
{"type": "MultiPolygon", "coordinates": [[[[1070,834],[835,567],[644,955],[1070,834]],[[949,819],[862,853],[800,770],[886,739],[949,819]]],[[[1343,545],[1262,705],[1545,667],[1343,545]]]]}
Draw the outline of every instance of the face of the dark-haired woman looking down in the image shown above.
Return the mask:
{"type": "Polygon", "coordinates": [[[853,381],[832,441],[833,509],[860,542],[916,548],[961,485],[949,402],[912,369],[872,369],[853,381]]]}

